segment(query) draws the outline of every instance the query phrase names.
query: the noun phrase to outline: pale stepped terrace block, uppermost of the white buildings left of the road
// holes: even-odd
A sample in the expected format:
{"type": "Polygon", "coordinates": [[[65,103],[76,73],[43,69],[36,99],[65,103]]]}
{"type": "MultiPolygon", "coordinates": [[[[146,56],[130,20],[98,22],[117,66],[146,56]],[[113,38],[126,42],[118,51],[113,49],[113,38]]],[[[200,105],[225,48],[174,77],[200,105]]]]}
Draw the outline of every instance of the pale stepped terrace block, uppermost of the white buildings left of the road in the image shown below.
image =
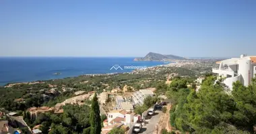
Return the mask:
{"type": "Polygon", "coordinates": [[[133,93],[133,102],[135,103],[135,105],[143,105],[143,100],[147,96],[154,96],[154,92],[148,89],[141,89],[133,93]]]}

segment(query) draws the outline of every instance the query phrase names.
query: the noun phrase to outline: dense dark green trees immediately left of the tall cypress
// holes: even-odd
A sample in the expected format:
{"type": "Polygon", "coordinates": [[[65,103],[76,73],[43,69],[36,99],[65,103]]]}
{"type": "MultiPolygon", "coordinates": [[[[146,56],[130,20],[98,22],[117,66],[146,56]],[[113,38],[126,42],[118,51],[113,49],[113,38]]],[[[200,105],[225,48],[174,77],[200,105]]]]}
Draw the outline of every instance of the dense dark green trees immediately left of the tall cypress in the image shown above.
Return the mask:
{"type": "MultiPolygon", "coordinates": [[[[90,128],[90,107],[83,105],[65,105],[64,113],[40,113],[36,119],[30,118],[30,113],[24,113],[24,121],[30,126],[42,125],[43,133],[83,133],[84,129],[90,128]]],[[[99,115],[100,116],[100,115],[99,115]]],[[[101,121],[99,121],[100,123],[101,121]]]]}

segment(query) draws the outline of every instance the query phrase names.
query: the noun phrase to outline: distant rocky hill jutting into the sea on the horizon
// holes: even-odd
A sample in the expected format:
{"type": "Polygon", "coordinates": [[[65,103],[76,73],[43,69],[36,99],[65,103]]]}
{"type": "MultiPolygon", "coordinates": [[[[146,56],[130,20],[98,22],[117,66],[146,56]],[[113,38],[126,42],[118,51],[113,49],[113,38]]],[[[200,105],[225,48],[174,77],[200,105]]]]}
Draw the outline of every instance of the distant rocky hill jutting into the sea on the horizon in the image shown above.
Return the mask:
{"type": "Polygon", "coordinates": [[[171,54],[164,55],[164,54],[157,54],[154,52],[148,53],[143,58],[135,58],[135,61],[163,61],[163,60],[183,60],[186,58],[180,57],[180,56],[174,56],[171,54]]]}

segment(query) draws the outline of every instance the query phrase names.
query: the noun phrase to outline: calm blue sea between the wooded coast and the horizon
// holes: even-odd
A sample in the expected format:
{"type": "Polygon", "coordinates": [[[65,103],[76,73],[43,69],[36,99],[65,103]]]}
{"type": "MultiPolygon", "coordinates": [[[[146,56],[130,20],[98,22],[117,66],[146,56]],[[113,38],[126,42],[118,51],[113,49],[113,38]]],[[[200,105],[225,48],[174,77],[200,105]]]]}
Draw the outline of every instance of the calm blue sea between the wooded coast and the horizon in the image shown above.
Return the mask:
{"type": "Polygon", "coordinates": [[[136,62],[134,58],[73,58],[73,57],[1,57],[0,86],[13,82],[31,82],[79,76],[131,72],[124,66],[157,66],[166,62],[136,62]],[[116,68],[120,66],[120,68],[116,68]],[[61,73],[56,75],[55,73],[61,73]]]}

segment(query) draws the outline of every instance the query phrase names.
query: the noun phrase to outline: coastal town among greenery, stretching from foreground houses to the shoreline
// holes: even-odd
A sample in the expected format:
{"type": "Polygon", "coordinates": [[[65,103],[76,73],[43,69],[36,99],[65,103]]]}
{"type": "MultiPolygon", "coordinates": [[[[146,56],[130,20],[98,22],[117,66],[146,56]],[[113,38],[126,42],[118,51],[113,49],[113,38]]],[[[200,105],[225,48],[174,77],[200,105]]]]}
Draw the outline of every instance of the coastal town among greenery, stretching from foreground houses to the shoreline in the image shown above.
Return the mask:
{"type": "MultiPolygon", "coordinates": [[[[221,80],[220,76],[222,76],[226,78],[223,83],[230,86],[228,79],[232,78],[232,82],[236,82],[237,76],[248,75],[241,67],[244,66],[243,61],[250,61],[248,68],[253,68],[249,76],[243,77],[243,80],[242,77],[239,79],[243,81],[242,84],[248,86],[252,81],[245,78],[255,78],[253,74],[256,73],[254,70],[256,65],[254,56],[245,55],[241,55],[241,58],[220,61],[219,59],[176,60],[175,63],[164,66],[143,68],[122,74],[88,74],[63,79],[67,81],[59,79],[7,84],[0,90],[1,92],[8,90],[1,95],[3,99],[0,103],[2,107],[0,133],[40,134],[57,133],[61,129],[64,131],[67,125],[58,128],[55,123],[60,123],[59,120],[62,118],[64,124],[71,123],[67,119],[77,120],[79,124],[80,120],[83,121],[88,117],[88,113],[81,110],[89,112],[94,96],[97,98],[102,117],[102,134],[111,134],[119,129],[126,134],[161,134],[164,133],[163,131],[180,133],[170,124],[171,109],[174,104],[177,105],[175,101],[178,101],[174,99],[173,95],[176,91],[174,92],[173,89],[187,88],[199,92],[206,77],[213,75],[210,74],[211,72],[217,73],[216,76],[220,78],[215,83],[221,80]],[[239,71],[233,70],[234,65],[240,66],[239,71]],[[216,66],[219,66],[219,69],[216,69],[216,66]],[[222,68],[226,68],[227,71],[222,68]],[[230,71],[236,73],[230,76],[230,71]],[[16,94],[13,90],[17,90],[20,94],[16,94]],[[75,114],[74,111],[77,111],[77,114],[82,112],[84,114],[82,116],[85,117],[70,115],[75,114]]],[[[228,89],[232,89],[232,86],[228,89]]],[[[88,133],[87,128],[89,127],[82,128],[82,133],[88,133]]]]}

